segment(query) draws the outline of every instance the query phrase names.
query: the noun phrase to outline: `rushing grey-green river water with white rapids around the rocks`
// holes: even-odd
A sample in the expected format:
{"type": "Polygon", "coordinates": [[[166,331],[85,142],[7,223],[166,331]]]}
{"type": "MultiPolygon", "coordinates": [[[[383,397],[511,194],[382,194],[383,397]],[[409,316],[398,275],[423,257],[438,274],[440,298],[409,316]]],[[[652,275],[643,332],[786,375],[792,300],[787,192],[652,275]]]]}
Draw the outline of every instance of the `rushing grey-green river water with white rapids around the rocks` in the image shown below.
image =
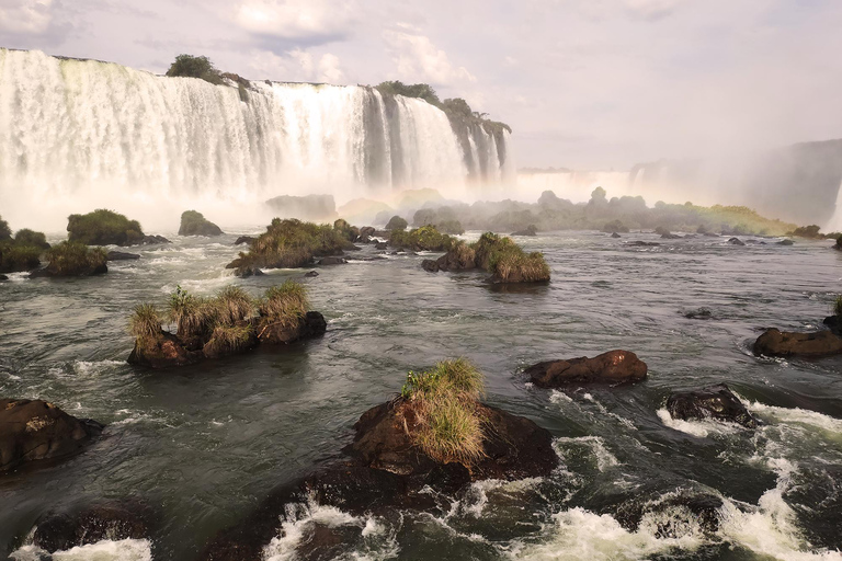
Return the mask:
{"type": "Polygon", "coordinates": [[[303,278],[230,276],[234,234],[170,239],[105,276],[0,283],[0,397],[50,400],[109,425],[78,456],[0,478],[0,557],[50,510],[137,497],[159,512],[151,541],[54,558],[190,561],[269,490],[341,455],[361,413],[394,397],[407,370],[466,356],[487,376],[489,403],[553,433],[557,472],[477,483],[441,513],[396,519],[301,505],[278,520],[266,559],[292,559],[314,520],[342,527],[344,559],[842,559],[842,360],[750,352],[764,327],[820,325],[842,276],[830,242],[630,248],[655,237],[542,234],[519,241],[545,252],[553,282],[515,291],[477,273],[425,273],[423,256],[317,267],[304,280],[329,320],[323,339],[146,371],[125,363],[136,304],[163,305],[179,284],[212,294],[236,283],[257,296],[303,278]],[[681,313],[699,307],[713,319],[681,313]],[[558,392],[520,375],[612,348],[637,353],[649,379],[558,392]],[[663,409],[671,390],[722,381],[761,427],[678,422],[663,409]],[[617,522],[624,501],[687,491],[722,499],[716,534],[675,508],[635,531],[617,522]]]}

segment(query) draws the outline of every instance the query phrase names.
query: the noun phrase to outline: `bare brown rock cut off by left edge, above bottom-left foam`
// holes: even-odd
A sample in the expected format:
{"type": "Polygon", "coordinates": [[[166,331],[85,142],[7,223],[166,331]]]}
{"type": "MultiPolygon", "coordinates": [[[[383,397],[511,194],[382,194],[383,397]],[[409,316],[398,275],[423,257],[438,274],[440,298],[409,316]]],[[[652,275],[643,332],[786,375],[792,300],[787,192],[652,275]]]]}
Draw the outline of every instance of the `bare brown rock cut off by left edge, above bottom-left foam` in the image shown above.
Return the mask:
{"type": "Polygon", "coordinates": [[[0,472],[78,451],[103,425],[42,400],[0,399],[0,472]]]}

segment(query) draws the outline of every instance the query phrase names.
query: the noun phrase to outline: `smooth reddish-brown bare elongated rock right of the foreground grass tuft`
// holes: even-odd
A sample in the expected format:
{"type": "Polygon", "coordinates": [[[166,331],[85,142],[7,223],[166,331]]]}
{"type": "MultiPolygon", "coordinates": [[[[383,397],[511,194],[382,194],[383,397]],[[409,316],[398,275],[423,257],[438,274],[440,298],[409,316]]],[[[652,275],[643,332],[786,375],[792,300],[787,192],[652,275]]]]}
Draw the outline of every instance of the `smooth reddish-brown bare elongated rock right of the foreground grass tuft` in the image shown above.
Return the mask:
{"type": "Polygon", "coordinates": [[[622,383],[646,379],[648,368],[635,353],[608,351],[593,358],[582,356],[547,360],[530,366],[524,374],[539,388],[558,388],[571,383],[622,383]]]}

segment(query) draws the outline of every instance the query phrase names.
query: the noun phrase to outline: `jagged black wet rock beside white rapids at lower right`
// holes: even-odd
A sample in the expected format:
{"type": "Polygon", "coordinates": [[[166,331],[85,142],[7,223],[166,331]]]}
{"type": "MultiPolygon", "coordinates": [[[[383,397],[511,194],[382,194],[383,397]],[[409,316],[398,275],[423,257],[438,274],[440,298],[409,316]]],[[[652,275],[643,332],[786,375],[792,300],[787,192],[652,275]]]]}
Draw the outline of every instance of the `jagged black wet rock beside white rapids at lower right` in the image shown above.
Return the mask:
{"type": "Polygon", "coordinates": [[[758,421],[725,383],[701,390],[678,391],[667,399],[667,411],[673,419],[726,421],[748,428],[758,421]]]}

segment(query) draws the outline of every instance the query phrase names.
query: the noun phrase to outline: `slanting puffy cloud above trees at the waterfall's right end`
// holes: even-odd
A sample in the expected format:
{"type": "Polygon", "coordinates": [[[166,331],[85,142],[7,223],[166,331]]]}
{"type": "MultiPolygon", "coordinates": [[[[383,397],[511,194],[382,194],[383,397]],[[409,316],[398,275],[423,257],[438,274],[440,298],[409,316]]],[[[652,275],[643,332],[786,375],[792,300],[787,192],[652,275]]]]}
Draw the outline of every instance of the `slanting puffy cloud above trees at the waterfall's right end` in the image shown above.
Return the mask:
{"type": "Polygon", "coordinates": [[[464,66],[455,67],[447,53],[437,48],[430,37],[417,33],[408,25],[399,25],[399,30],[384,31],[383,38],[401,79],[434,85],[477,80],[464,66]]]}

